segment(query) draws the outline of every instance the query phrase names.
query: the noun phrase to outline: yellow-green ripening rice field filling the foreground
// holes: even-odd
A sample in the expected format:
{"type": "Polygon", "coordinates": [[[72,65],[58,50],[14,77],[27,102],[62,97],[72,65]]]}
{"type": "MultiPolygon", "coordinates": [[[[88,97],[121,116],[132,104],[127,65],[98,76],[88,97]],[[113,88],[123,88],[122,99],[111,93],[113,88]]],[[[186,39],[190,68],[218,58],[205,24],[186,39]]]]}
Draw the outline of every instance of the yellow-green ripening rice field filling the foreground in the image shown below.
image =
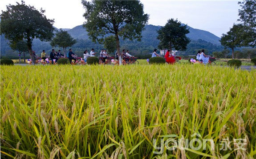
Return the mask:
{"type": "Polygon", "coordinates": [[[256,70],[1,66],[1,158],[256,158],[256,70]]]}

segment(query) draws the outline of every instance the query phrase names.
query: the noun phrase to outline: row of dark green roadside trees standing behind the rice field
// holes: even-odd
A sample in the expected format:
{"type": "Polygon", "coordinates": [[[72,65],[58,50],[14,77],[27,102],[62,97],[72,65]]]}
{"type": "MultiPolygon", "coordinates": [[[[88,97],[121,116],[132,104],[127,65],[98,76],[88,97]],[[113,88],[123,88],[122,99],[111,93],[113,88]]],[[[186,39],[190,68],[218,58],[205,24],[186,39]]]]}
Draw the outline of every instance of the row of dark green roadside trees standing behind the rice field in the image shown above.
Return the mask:
{"type": "MultiPolygon", "coordinates": [[[[84,17],[86,22],[83,27],[93,42],[104,44],[110,51],[117,50],[119,62],[122,63],[120,54],[120,38],[125,40],[142,38],[149,15],[144,14],[143,4],[139,0],[82,0],[85,8],[84,17]],[[104,7],[103,7],[104,6],[104,7]]],[[[241,24],[234,24],[227,34],[221,37],[221,44],[225,48],[232,49],[242,46],[255,47],[256,44],[256,1],[244,0],[239,2],[242,9],[239,10],[241,24]]],[[[25,5],[24,1],[17,5],[9,4],[7,11],[1,13],[1,30],[5,38],[10,41],[10,46],[20,52],[28,49],[30,57],[33,58],[33,39],[51,41],[52,46],[59,46],[66,52],[67,47],[73,46],[74,40],[66,31],[57,31],[54,35],[54,20],[44,16],[43,9],[37,11],[33,6],[25,5]],[[24,47],[24,44],[26,47],[24,47]]],[[[181,24],[178,20],[170,19],[164,27],[158,30],[157,39],[160,40],[158,48],[175,48],[186,50],[190,40],[186,34],[189,33],[187,25],[181,24]]]]}

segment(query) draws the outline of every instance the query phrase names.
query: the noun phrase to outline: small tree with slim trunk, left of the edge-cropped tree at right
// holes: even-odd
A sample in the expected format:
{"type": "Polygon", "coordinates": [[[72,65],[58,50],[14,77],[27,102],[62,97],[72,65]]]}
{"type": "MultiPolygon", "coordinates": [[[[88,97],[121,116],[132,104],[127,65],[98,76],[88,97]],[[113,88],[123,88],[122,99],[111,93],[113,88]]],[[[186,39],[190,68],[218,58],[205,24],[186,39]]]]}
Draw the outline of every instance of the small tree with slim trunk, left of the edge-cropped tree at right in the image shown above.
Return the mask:
{"type": "Polygon", "coordinates": [[[222,34],[220,44],[224,46],[224,48],[232,49],[232,59],[234,59],[234,48],[241,47],[243,43],[243,25],[242,24],[234,24],[230,31],[227,34],[222,34]]]}

